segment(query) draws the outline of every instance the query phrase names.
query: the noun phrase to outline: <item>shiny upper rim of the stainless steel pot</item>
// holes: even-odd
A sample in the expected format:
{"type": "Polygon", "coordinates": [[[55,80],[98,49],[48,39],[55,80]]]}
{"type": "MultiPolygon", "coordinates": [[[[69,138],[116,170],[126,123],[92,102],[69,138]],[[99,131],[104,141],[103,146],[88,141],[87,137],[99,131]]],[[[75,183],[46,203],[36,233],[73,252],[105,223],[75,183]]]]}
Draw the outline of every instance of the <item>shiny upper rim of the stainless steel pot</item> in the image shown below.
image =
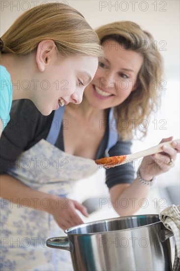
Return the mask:
{"type": "Polygon", "coordinates": [[[93,232],[93,233],[69,233],[69,231],[73,231],[73,230],[77,229],[78,227],[80,227],[82,225],[87,226],[87,225],[97,224],[97,223],[100,223],[100,222],[105,222],[106,223],[108,221],[124,220],[124,219],[127,219],[127,218],[133,218],[133,217],[138,218],[138,217],[141,217],[141,216],[157,217],[159,219],[159,215],[158,214],[141,214],[141,215],[120,216],[120,217],[114,217],[114,218],[108,218],[108,219],[102,219],[102,220],[92,221],[92,222],[88,222],[88,223],[82,223],[82,224],[79,224],[77,226],[74,226],[74,227],[66,229],[64,231],[64,233],[67,234],[67,235],[72,235],[72,236],[74,236],[74,235],[78,235],[78,236],[90,236],[90,235],[96,235],[96,234],[115,233],[115,232],[119,232],[119,231],[123,232],[123,231],[132,230],[132,229],[144,228],[144,227],[151,226],[151,225],[154,225],[154,224],[157,224],[157,223],[162,223],[159,220],[157,222],[150,223],[150,224],[147,224],[147,225],[143,225],[143,226],[139,226],[139,227],[134,227],[134,228],[127,228],[127,229],[123,229],[123,230],[115,230],[115,231],[107,231],[107,232],[93,232]]]}

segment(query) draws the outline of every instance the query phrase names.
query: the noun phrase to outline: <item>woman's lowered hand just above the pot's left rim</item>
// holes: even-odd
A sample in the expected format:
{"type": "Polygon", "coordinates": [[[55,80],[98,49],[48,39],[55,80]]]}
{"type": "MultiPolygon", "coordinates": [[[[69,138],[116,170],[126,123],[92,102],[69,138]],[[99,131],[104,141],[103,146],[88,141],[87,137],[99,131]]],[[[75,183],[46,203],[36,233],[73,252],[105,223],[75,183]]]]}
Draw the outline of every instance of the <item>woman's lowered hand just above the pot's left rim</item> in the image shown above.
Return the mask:
{"type": "Polygon", "coordinates": [[[77,201],[53,196],[50,213],[63,230],[84,223],[77,214],[76,209],[88,217],[87,208],[77,201]]]}

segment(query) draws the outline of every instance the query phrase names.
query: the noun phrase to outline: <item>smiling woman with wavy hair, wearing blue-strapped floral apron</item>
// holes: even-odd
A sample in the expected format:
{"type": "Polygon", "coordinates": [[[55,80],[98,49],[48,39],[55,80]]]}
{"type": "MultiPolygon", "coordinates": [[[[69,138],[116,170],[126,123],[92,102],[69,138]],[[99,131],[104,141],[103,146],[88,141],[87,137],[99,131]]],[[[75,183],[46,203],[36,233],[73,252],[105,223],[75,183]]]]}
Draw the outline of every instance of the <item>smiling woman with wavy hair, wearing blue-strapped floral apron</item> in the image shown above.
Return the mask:
{"type": "MultiPolygon", "coordinates": [[[[98,169],[94,159],[130,153],[132,132],[139,128],[135,120],[148,119],[157,103],[159,94],[152,82],[160,80],[161,58],[150,34],[132,22],[105,25],[97,34],[105,58],[99,60],[81,104],[43,116],[30,101],[13,103],[11,121],[1,138],[1,236],[37,239],[35,249],[31,239],[29,247],[23,243],[11,247],[4,239],[4,270],[8,270],[8,261],[14,269],[27,270],[33,258],[41,258],[48,270],[65,270],[60,262],[65,251],[42,249],[41,240],[60,236],[60,228],[83,223],[76,210],[87,216],[86,208],[68,198],[73,183],[98,169]],[[123,129],[123,119],[134,120],[133,126],[123,129]]],[[[120,215],[131,215],[139,208],[138,199],[145,198],[149,190],[142,179],[151,184],[155,175],[169,170],[179,149],[173,142],[172,148],[164,146],[162,153],[146,157],[148,167],[141,167],[135,179],[131,164],[106,170],[112,202],[137,198],[128,208],[115,205],[120,215]],[[160,159],[166,169],[157,167],[160,159]]],[[[33,267],[44,270],[40,264],[33,267]]]]}

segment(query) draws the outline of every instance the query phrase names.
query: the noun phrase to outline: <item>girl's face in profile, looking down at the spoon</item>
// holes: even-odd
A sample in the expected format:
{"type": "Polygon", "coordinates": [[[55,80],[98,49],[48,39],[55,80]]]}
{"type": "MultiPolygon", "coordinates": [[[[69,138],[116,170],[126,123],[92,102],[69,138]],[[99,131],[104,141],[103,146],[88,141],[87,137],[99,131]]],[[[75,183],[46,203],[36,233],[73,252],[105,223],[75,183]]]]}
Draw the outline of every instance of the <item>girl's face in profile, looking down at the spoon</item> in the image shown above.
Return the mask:
{"type": "Polygon", "coordinates": [[[84,89],[94,77],[97,66],[97,57],[75,55],[59,58],[56,54],[45,70],[42,68],[43,72],[38,73],[39,87],[32,101],[43,115],[49,115],[60,105],[82,102],[84,89]]]}

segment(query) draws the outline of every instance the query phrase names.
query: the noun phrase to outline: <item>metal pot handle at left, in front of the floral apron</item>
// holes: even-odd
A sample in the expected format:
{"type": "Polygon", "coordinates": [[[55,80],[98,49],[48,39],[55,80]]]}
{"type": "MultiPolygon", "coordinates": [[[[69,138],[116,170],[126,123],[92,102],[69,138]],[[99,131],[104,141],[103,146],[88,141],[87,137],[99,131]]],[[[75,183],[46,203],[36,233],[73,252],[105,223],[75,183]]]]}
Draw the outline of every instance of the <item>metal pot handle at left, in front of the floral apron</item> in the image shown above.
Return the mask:
{"type": "Polygon", "coordinates": [[[74,252],[74,246],[71,241],[68,240],[67,237],[52,237],[47,239],[46,245],[48,247],[52,248],[59,248],[59,249],[64,249],[68,250],[71,253],[74,252]]]}

